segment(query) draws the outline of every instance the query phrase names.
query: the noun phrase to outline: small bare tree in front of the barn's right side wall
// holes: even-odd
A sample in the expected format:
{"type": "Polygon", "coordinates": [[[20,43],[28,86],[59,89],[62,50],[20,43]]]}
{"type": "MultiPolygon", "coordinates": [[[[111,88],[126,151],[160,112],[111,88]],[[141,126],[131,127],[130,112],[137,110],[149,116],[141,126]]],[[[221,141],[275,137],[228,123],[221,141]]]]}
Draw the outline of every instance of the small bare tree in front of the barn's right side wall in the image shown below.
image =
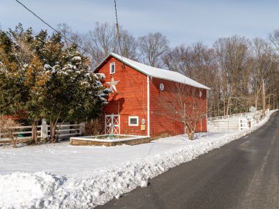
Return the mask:
{"type": "Polygon", "coordinates": [[[206,95],[202,95],[202,90],[185,84],[169,85],[158,104],[163,108],[156,114],[183,123],[185,134],[193,140],[197,125],[206,117],[206,95]]]}

